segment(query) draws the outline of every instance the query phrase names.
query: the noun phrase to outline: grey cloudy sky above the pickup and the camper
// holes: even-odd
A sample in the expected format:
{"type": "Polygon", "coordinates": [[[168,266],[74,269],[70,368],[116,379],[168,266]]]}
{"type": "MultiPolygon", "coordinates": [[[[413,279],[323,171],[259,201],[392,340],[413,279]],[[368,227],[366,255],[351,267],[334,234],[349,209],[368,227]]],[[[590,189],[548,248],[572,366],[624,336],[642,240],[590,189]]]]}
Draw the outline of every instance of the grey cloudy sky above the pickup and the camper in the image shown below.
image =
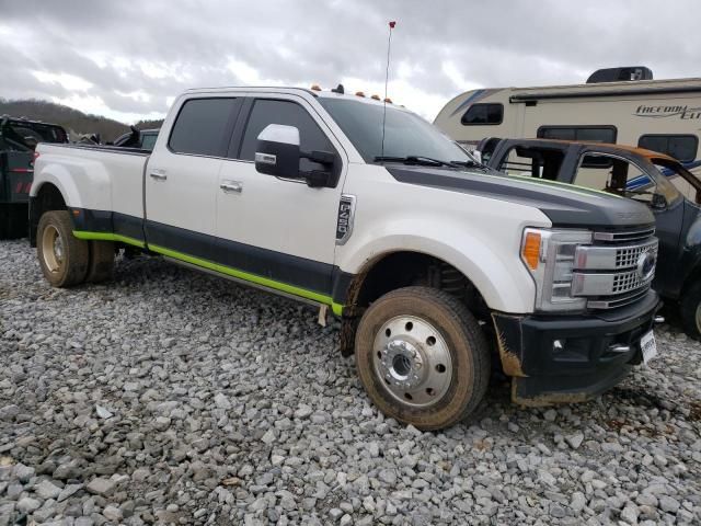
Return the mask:
{"type": "Polygon", "coordinates": [[[123,122],[209,85],[383,92],[433,119],[478,87],[576,83],[645,65],[701,76],[701,1],[0,0],[0,98],[123,122]]]}

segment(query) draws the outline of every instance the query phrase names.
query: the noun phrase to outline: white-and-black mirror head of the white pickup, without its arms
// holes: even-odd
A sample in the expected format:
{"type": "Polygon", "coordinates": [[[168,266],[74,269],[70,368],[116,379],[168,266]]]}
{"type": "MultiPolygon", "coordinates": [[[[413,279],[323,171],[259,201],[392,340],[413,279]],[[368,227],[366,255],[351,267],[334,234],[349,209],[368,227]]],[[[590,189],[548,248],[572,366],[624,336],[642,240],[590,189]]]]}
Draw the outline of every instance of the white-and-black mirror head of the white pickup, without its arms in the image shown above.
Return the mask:
{"type": "Polygon", "coordinates": [[[268,124],[258,135],[255,170],[276,178],[299,179],[299,129],[268,124]]]}

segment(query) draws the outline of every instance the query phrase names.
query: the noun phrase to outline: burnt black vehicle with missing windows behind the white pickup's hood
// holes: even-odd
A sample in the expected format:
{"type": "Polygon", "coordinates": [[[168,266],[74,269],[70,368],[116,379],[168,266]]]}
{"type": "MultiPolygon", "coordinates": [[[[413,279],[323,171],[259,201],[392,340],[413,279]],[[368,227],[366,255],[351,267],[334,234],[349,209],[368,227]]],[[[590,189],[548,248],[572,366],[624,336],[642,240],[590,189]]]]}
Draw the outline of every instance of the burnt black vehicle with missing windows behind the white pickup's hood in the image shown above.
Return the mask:
{"type": "MultiPolygon", "coordinates": [[[[655,215],[659,261],[653,287],[679,304],[701,339],[701,181],[676,159],[642,148],[548,139],[503,139],[489,165],[642,202],[655,215]]],[[[632,254],[621,264],[635,266],[632,254]]]]}

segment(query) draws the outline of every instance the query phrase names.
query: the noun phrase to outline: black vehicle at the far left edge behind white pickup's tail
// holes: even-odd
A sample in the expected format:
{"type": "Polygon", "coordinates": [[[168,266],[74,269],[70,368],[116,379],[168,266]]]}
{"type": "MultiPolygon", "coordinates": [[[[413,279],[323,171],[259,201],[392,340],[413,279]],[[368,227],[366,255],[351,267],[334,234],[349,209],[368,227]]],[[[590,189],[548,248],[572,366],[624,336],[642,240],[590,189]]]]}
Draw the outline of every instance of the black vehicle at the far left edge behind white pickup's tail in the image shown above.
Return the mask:
{"type": "Polygon", "coordinates": [[[39,142],[68,142],[68,134],[56,124],[8,116],[0,121],[0,239],[27,235],[34,148],[39,142]]]}

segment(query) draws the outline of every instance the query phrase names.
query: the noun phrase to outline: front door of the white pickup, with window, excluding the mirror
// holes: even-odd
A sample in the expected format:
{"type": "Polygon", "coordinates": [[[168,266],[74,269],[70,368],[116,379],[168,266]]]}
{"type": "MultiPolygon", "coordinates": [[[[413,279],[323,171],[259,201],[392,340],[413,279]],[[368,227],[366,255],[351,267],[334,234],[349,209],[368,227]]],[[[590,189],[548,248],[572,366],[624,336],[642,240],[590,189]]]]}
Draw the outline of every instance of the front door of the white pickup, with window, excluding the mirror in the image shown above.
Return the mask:
{"type": "MultiPolygon", "coordinates": [[[[330,296],[336,216],[347,165],[342,153],[340,144],[303,98],[271,94],[246,100],[229,159],[222,161],[216,197],[217,236],[225,264],[274,288],[311,299],[330,296]],[[290,179],[258,173],[254,164],[257,137],[271,124],[298,128],[304,151],[338,156],[342,171],[335,186],[309,187],[295,179],[297,173],[290,179]]],[[[312,164],[302,160],[300,169],[312,164]]]]}

